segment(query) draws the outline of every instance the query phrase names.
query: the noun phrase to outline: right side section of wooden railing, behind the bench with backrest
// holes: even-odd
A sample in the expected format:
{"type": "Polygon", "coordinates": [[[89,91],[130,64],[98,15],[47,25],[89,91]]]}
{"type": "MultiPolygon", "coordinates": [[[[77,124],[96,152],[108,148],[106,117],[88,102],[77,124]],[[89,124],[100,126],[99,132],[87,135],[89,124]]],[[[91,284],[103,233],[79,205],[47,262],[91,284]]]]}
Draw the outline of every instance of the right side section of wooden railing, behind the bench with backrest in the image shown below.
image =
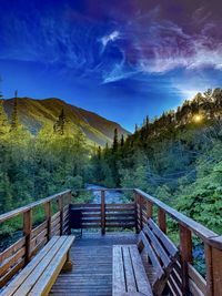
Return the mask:
{"type": "Polygon", "coordinates": [[[222,236],[208,229],[200,223],[186,217],[161,201],[134,190],[140,229],[155,207],[159,227],[167,233],[169,215],[179,226],[180,261],[170,276],[169,287],[173,295],[221,296],[222,295],[222,236]],[[193,266],[192,236],[198,236],[204,244],[206,278],[193,266]]]}

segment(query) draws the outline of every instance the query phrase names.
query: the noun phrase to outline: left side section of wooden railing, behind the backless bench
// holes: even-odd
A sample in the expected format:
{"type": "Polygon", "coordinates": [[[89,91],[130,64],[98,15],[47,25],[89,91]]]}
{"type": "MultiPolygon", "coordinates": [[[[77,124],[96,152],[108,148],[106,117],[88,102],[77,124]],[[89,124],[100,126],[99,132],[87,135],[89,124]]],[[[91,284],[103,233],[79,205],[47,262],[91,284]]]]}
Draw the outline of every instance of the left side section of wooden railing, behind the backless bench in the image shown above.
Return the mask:
{"type": "Polygon", "coordinates": [[[0,215],[0,225],[14,217],[21,215],[23,217],[23,236],[0,253],[0,287],[3,287],[27,265],[31,257],[47,244],[51,236],[62,235],[69,232],[70,203],[71,191],[68,190],[0,215]],[[57,202],[58,212],[52,214],[52,203],[54,202],[57,202]],[[37,207],[42,207],[44,220],[38,226],[33,226],[32,214],[37,207]]]}

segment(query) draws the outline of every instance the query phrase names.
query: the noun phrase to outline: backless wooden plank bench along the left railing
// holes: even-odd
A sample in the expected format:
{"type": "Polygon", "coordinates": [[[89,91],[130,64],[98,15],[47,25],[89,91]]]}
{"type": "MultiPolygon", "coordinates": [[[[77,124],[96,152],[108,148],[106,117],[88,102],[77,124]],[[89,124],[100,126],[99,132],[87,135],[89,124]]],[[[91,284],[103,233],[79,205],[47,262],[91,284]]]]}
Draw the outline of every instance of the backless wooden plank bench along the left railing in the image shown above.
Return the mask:
{"type": "Polygon", "coordinates": [[[48,295],[62,268],[70,271],[74,236],[53,236],[34,258],[2,290],[2,296],[48,295]]]}

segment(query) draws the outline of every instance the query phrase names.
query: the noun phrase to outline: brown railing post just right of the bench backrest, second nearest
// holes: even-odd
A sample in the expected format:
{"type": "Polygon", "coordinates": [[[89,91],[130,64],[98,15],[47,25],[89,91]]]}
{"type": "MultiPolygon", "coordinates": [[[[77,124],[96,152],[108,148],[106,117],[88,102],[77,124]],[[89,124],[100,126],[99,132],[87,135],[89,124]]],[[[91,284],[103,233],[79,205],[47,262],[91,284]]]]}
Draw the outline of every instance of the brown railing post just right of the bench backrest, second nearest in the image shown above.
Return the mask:
{"type": "Polygon", "coordinates": [[[180,255],[182,268],[182,294],[189,295],[188,263],[192,264],[192,233],[189,228],[180,225],[180,255]]]}

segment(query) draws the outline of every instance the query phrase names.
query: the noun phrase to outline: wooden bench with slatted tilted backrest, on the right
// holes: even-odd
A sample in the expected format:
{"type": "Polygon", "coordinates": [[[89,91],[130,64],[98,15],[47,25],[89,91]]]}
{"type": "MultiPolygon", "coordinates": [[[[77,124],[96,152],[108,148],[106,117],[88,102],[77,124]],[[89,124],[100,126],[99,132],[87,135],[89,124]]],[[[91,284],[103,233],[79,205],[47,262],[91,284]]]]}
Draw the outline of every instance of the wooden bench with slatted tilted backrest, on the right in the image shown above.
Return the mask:
{"type": "Polygon", "coordinates": [[[178,248],[149,218],[137,245],[113,246],[112,295],[162,295],[178,258],[178,248]]]}

